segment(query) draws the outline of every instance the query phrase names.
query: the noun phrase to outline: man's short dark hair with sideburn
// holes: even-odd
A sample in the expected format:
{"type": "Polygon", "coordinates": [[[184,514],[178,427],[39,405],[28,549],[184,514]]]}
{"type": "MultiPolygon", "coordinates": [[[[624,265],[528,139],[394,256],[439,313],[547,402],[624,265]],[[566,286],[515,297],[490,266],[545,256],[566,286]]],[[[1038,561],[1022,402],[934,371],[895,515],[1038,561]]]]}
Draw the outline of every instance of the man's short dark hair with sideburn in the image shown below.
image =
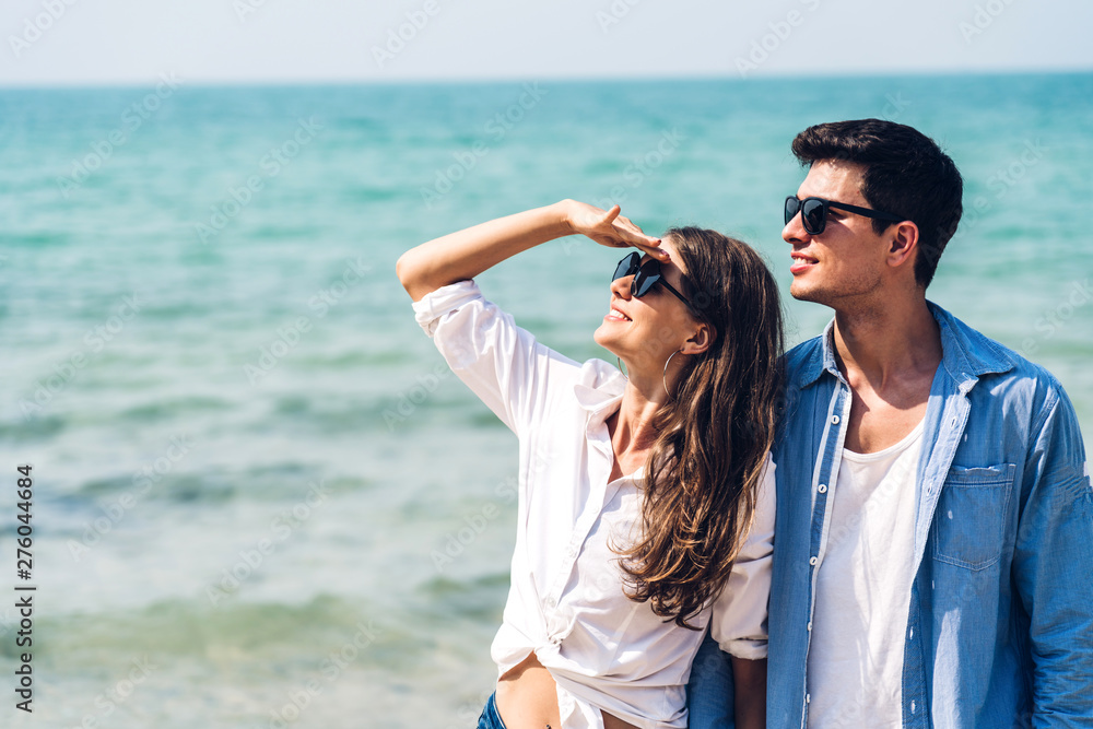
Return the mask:
{"type": "MultiPolygon", "coordinates": [[[[915,281],[924,289],[930,285],[960,224],[964,193],[960,171],[933,140],[906,125],[859,119],[809,127],[794,139],[792,149],[810,167],[826,161],[863,165],[861,195],[869,207],[918,225],[915,281]]],[[[878,233],[889,225],[873,221],[878,233]]]]}

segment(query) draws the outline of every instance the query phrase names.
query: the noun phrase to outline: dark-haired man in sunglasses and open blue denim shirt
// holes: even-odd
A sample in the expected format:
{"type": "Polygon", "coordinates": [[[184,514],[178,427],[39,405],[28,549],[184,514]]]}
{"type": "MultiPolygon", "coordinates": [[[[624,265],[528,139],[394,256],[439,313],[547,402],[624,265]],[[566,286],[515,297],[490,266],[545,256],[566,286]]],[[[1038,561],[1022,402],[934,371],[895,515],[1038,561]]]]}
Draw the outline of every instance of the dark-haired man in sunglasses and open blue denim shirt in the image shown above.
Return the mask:
{"type": "MultiPolygon", "coordinates": [[[[786,355],[767,725],[1093,727],[1073,408],[926,299],[960,173],[877,119],[811,127],[792,150],[808,175],[786,201],[790,293],[835,317],[786,355]]],[[[728,726],[716,652],[692,673],[696,729],[728,726]]]]}

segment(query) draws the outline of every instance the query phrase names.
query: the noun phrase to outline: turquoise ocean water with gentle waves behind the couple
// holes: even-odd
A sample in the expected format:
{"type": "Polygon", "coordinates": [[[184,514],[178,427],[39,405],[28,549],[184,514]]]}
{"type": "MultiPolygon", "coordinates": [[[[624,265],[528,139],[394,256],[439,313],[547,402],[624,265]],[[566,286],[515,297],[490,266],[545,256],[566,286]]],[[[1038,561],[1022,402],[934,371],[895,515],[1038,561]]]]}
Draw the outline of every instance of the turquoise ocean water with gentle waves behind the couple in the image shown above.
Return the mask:
{"type": "MultiPolygon", "coordinates": [[[[24,462],[38,586],[33,717],[0,598],[3,726],[472,726],[516,442],[396,259],[572,197],[736,234],[788,289],[789,141],[860,117],[954,157],[930,298],[1055,373],[1088,437],[1090,74],[0,91],[0,595],[24,462]]],[[[607,356],[619,257],[571,238],[480,282],[607,356]]],[[[790,343],[830,318],[786,309],[790,343]]]]}

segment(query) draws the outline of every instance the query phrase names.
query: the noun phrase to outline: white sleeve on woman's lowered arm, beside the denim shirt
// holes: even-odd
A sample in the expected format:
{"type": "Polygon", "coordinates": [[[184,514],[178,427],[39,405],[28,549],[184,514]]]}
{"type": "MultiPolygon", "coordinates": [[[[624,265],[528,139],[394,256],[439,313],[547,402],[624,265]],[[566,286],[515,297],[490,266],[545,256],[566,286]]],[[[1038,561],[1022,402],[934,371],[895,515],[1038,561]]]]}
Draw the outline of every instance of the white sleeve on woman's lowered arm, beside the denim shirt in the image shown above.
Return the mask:
{"type": "Polygon", "coordinates": [[[774,554],[775,465],[767,454],[755,496],[755,518],[737,554],[725,589],[714,601],[709,630],[717,645],[737,658],[766,658],[766,615],[774,554]]]}

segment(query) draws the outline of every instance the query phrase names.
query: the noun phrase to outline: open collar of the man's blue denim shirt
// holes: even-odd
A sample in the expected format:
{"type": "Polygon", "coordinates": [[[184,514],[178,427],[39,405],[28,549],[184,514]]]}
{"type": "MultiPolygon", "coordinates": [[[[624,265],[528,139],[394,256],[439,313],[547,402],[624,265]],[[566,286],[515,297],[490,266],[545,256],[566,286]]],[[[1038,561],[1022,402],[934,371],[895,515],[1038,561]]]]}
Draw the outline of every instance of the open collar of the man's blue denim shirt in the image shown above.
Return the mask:
{"type": "MultiPolygon", "coordinates": [[[[962,391],[971,390],[982,375],[1009,372],[1015,366],[1016,361],[1010,352],[933,302],[927,301],[926,305],[941,330],[941,365],[962,391]]],[[[814,345],[798,368],[792,385],[800,389],[809,387],[824,372],[842,381],[843,375],[835,362],[834,331],[835,319],[832,317],[823,334],[813,340],[814,345]]]]}

